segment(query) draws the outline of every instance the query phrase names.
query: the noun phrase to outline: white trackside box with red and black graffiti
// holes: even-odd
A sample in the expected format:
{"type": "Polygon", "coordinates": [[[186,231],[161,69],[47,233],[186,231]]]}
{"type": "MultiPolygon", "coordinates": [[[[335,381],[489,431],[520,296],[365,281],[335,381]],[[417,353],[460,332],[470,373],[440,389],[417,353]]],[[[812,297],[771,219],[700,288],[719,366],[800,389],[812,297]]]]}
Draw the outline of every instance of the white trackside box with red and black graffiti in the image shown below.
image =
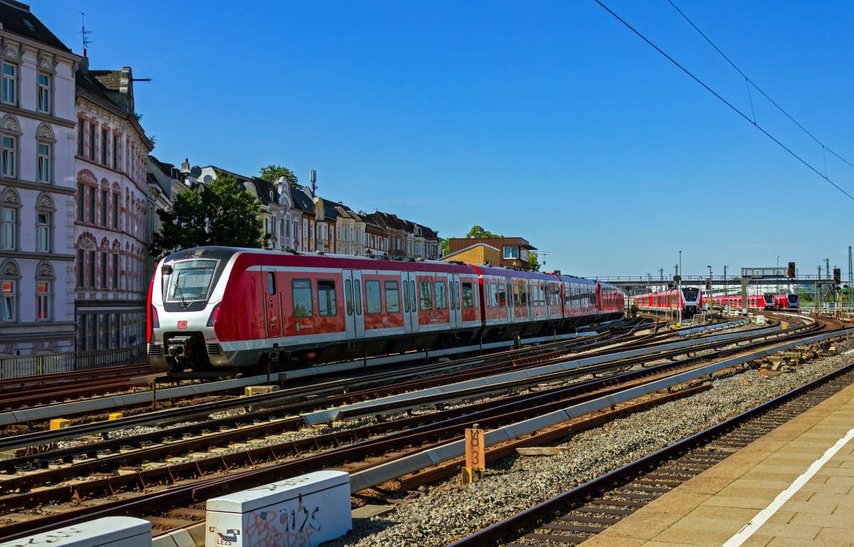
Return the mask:
{"type": "Polygon", "coordinates": [[[353,528],[350,475],[316,471],[208,500],[208,547],[304,545],[353,528]]]}

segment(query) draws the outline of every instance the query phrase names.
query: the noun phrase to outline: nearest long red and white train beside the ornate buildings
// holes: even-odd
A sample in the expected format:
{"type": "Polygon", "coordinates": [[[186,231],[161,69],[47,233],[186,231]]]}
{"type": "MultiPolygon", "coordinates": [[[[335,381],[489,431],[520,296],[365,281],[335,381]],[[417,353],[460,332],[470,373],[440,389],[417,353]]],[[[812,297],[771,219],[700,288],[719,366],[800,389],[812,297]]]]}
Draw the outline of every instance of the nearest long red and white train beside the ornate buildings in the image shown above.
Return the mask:
{"type": "Polygon", "coordinates": [[[149,362],[211,371],[477,343],[623,315],[623,291],[448,262],[197,247],[149,287],[149,362]]]}

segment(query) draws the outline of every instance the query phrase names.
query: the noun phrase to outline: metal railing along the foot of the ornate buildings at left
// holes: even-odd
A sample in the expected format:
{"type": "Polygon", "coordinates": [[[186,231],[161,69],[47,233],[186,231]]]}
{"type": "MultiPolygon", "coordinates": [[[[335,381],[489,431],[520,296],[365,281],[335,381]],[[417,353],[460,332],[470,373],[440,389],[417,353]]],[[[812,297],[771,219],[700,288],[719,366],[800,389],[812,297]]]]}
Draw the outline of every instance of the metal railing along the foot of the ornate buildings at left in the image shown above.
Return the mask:
{"type": "Polygon", "coordinates": [[[112,350],[66,351],[35,356],[0,357],[0,379],[56,374],[76,370],[143,365],[148,362],[145,345],[112,350]]]}

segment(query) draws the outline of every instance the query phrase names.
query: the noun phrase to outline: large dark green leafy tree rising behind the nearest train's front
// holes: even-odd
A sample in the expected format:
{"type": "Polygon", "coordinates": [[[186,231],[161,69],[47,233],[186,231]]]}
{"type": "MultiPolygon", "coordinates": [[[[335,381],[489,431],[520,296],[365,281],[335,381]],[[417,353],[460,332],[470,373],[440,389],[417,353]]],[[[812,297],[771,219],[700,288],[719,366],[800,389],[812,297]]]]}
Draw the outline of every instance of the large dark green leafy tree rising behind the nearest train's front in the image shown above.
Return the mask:
{"type": "Polygon", "coordinates": [[[151,237],[149,252],[160,258],[202,245],[260,248],[270,240],[261,234],[260,202],[237,179],[221,172],[200,193],[185,190],[172,211],[157,211],[161,230],[151,237]]]}

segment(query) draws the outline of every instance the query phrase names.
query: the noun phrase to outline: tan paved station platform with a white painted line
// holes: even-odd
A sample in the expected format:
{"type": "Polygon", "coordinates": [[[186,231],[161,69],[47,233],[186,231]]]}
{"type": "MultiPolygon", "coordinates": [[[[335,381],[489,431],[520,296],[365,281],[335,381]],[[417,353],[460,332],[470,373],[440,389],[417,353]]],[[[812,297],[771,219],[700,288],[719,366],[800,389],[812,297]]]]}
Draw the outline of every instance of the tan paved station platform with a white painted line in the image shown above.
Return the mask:
{"type": "Polygon", "coordinates": [[[854,547],[851,435],[854,385],[582,545],[854,547]]]}

